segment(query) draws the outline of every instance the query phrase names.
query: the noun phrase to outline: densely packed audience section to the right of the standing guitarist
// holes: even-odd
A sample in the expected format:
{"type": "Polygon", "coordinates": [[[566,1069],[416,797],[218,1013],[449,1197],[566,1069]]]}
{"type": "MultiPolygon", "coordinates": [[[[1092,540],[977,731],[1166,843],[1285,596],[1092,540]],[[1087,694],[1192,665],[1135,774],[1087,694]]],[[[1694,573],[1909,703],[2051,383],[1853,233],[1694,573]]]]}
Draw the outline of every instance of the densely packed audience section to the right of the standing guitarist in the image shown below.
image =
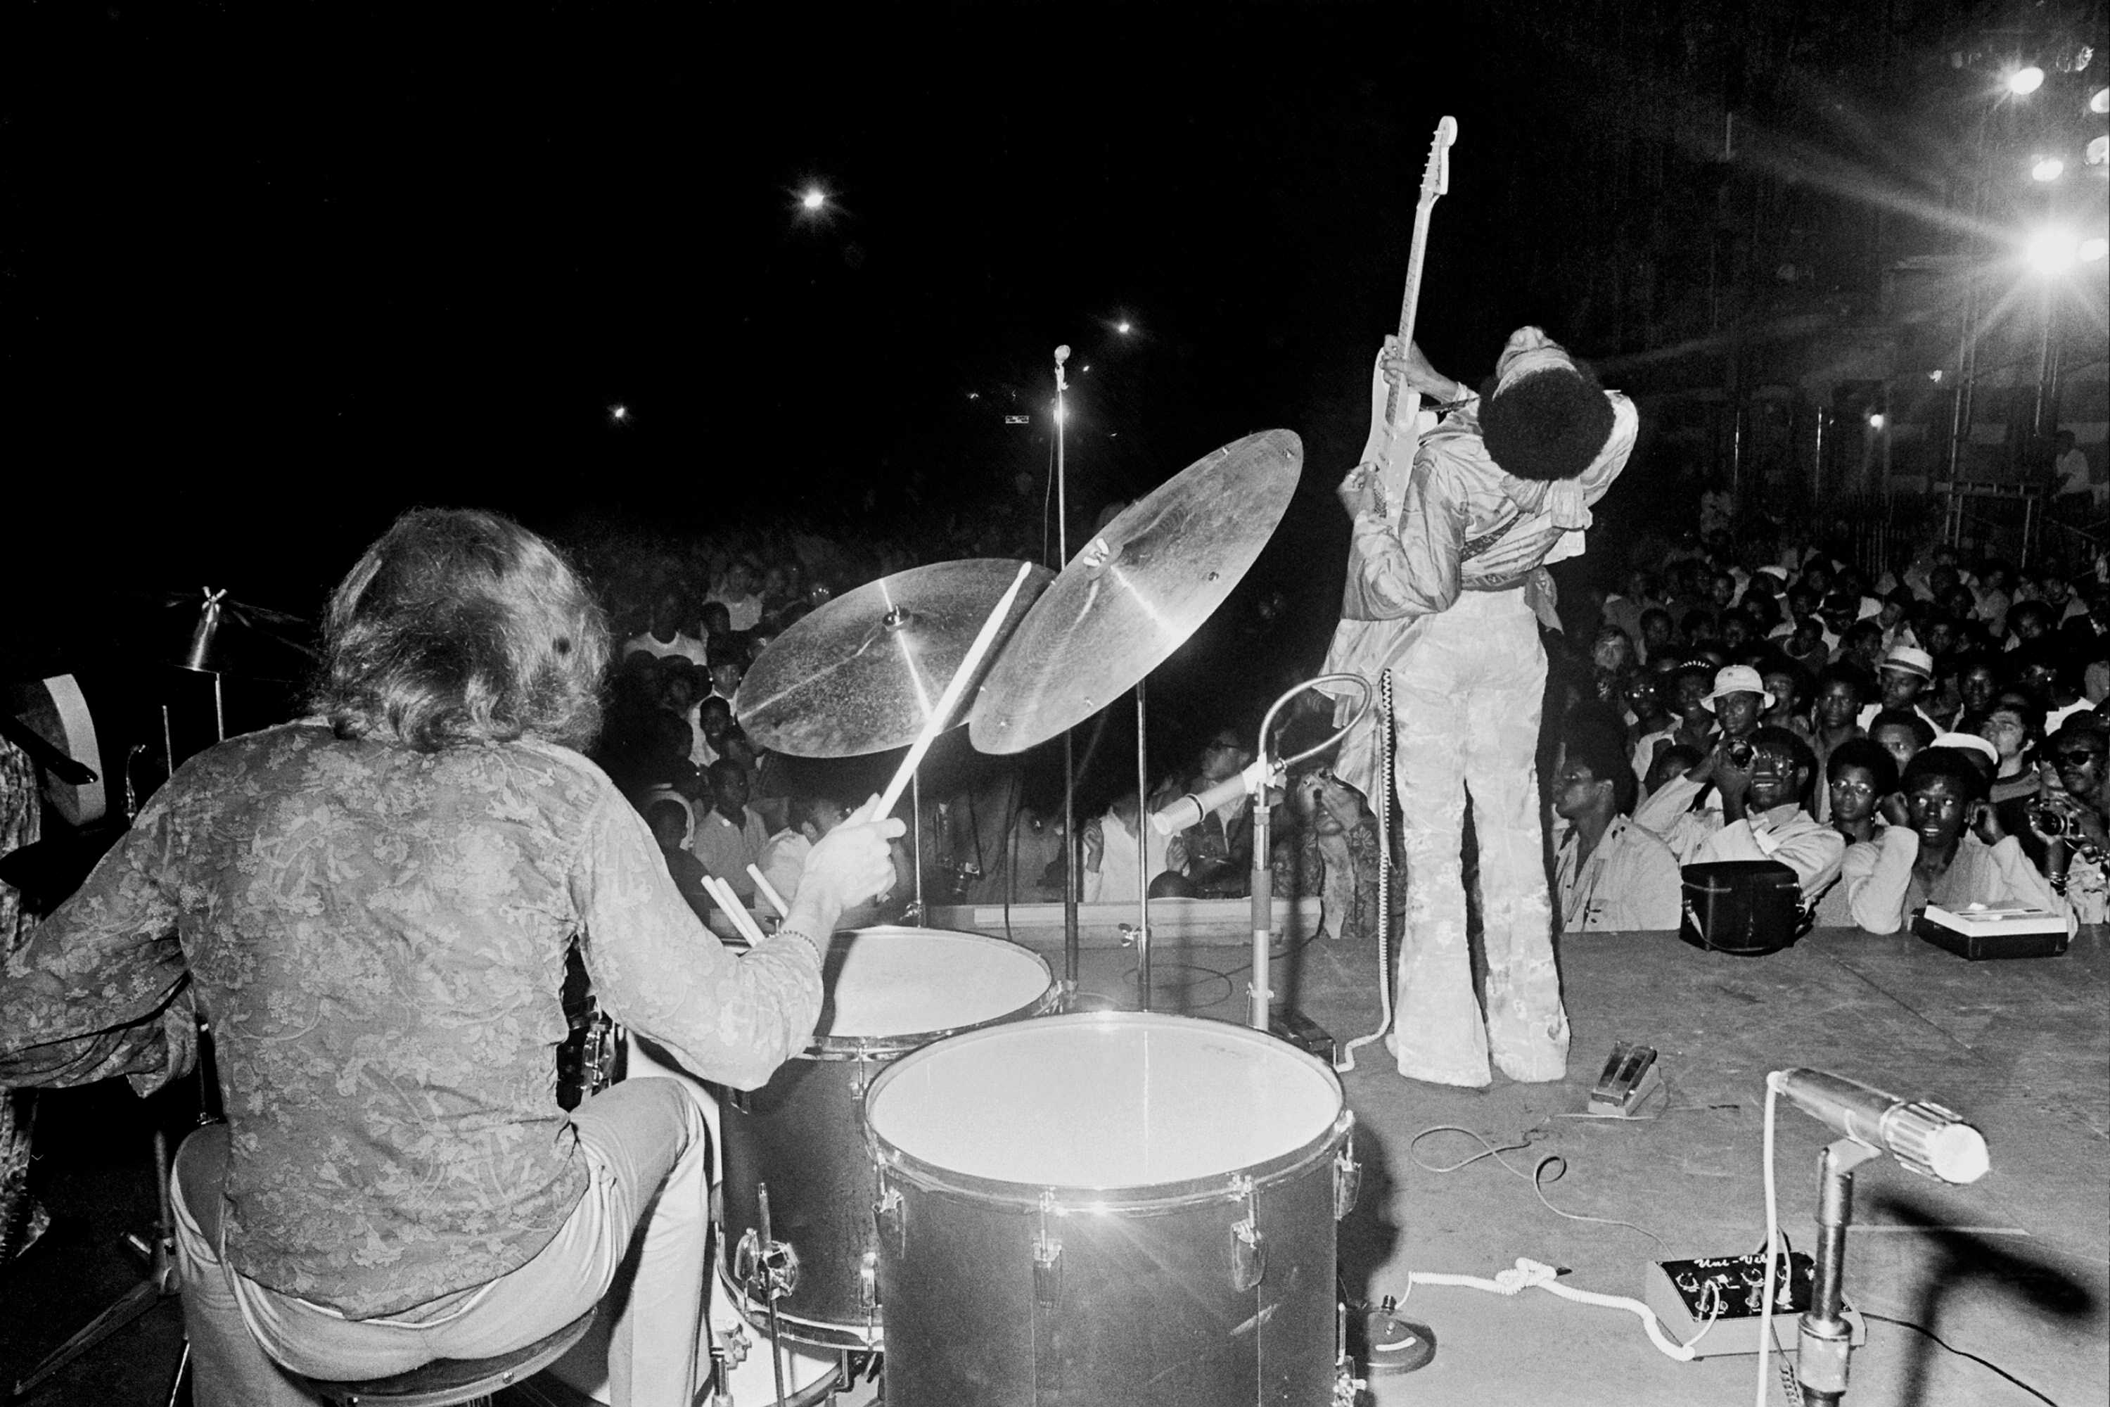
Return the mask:
{"type": "Polygon", "coordinates": [[[1815,922],[1869,932],[1929,903],[2104,920],[2102,563],[1931,546],[1872,574],[1715,532],[1591,605],[1587,658],[1549,639],[1566,928],[1673,926],[1709,861],[1787,865],[1815,922]]]}

